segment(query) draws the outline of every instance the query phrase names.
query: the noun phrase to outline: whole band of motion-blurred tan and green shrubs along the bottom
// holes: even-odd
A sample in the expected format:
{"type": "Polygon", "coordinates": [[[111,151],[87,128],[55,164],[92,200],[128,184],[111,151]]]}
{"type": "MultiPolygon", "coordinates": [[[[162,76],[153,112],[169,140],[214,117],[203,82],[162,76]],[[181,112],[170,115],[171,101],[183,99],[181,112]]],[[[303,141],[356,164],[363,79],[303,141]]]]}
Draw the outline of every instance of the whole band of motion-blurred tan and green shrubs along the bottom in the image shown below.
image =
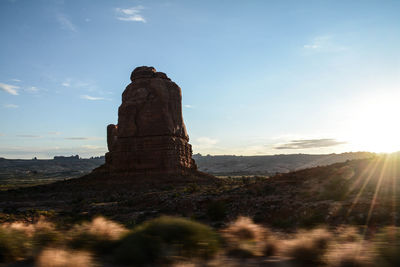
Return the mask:
{"type": "Polygon", "coordinates": [[[63,227],[41,218],[0,226],[0,262],[40,267],[399,266],[400,229],[337,226],[279,232],[239,217],[216,230],[169,216],[134,228],[104,217],[63,227]]]}

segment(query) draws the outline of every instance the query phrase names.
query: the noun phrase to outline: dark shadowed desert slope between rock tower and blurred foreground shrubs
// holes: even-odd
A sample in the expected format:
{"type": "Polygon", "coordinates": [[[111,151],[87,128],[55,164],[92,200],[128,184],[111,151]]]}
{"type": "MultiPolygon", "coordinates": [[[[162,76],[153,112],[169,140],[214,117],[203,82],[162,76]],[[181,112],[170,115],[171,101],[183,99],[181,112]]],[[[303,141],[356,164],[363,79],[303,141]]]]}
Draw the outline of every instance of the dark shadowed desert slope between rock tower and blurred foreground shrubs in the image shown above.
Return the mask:
{"type": "Polygon", "coordinates": [[[0,207],[7,207],[1,219],[43,211],[60,215],[58,219],[103,214],[125,223],[170,214],[211,223],[245,215],[274,227],[399,224],[399,166],[398,154],[393,154],[270,178],[189,177],[173,182],[166,177],[94,175],[1,192],[0,207]]]}

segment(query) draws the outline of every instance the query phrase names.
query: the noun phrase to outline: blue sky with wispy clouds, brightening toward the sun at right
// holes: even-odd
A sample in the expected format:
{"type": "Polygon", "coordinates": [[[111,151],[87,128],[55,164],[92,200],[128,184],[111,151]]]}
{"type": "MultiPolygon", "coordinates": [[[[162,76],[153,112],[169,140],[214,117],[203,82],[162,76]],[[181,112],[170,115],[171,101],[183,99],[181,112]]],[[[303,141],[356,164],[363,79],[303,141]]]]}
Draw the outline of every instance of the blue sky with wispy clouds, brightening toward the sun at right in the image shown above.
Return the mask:
{"type": "Polygon", "coordinates": [[[98,156],[137,66],[194,153],[400,150],[400,1],[0,0],[0,157],[98,156]]]}

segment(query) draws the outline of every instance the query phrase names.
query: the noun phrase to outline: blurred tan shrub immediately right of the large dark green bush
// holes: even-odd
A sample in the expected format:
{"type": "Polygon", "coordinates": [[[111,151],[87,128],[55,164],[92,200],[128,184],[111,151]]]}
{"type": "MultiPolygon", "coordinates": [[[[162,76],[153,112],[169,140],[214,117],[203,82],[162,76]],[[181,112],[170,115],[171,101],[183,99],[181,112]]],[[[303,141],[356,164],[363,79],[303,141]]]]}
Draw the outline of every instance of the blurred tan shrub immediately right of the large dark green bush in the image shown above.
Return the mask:
{"type": "Polygon", "coordinates": [[[267,230],[250,218],[239,217],[221,231],[230,256],[251,257],[262,253],[267,230]]]}

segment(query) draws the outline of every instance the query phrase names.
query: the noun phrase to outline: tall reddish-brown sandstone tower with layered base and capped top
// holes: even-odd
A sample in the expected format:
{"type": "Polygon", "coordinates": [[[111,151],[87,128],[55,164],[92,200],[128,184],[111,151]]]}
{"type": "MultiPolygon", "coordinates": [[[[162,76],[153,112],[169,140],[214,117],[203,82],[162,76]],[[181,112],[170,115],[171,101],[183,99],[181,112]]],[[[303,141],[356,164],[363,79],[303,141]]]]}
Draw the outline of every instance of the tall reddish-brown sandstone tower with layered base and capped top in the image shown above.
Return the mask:
{"type": "Polygon", "coordinates": [[[122,94],[118,124],[107,127],[105,167],[133,174],[187,174],[197,169],[182,118],[182,92],[165,73],[138,67],[122,94]]]}

